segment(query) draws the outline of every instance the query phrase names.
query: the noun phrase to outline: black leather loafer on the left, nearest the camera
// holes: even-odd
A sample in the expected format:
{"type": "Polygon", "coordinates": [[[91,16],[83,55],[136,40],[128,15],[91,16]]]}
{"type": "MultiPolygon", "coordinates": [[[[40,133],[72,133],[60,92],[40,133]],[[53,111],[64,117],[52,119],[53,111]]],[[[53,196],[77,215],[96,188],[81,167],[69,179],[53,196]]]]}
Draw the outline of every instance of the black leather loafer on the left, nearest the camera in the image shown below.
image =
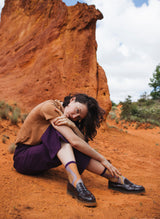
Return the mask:
{"type": "Polygon", "coordinates": [[[88,191],[82,182],[78,183],[76,188],[68,182],[67,193],[83,202],[87,207],[96,207],[97,205],[94,195],[88,191]]]}

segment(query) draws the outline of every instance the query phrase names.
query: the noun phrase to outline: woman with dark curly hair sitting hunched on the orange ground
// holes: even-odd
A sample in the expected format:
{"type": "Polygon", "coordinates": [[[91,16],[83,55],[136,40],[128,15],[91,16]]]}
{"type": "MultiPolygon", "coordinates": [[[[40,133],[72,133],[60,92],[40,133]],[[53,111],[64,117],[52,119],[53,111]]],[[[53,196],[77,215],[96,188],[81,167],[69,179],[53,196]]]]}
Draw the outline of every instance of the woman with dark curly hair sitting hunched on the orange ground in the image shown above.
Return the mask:
{"type": "Polygon", "coordinates": [[[31,175],[63,164],[68,175],[67,192],[86,206],[96,206],[96,199],[81,179],[85,169],[109,179],[110,189],[143,192],[143,186],[123,177],[87,143],[95,137],[103,116],[104,110],[86,94],[69,95],[63,103],[48,100],[39,104],[18,133],[15,169],[31,175]]]}

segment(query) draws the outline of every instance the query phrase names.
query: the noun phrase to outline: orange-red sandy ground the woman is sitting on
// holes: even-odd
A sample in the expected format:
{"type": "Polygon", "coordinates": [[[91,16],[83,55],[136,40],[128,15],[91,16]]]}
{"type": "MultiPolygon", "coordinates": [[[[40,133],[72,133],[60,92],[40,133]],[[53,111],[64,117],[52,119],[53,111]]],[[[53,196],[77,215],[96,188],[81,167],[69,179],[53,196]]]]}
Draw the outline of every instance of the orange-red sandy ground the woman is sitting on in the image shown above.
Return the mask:
{"type": "Polygon", "coordinates": [[[14,170],[8,145],[18,129],[0,121],[0,219],[160,218],[160,128],[99,130],[91,145],[120,168],[124,176],[144,185],[146,193],[111,191],[106,179],[85,171],[83,180],[96,196],[96,208],[84,207],[66,194],[67,177],[62,166],[40,176],[21,175],[14,170]],[[9,136],[5,144],[3,135],[9,136]]]}

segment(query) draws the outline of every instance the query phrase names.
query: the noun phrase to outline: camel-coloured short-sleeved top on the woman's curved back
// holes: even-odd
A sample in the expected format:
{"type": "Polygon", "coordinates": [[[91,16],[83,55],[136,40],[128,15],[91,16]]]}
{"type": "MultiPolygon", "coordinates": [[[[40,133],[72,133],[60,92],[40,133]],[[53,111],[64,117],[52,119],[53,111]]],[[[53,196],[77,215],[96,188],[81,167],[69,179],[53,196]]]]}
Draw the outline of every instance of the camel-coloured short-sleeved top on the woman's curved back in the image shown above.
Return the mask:
{"type": "Polygon", "coordinates": [[[60,116],[55,110],[64,111],[62,104],[57,100],[47,100],[31,110],[25,119],[15,143],[36,145],[41,143],[41,137],[51,124],[50,120],[60,116]]]}

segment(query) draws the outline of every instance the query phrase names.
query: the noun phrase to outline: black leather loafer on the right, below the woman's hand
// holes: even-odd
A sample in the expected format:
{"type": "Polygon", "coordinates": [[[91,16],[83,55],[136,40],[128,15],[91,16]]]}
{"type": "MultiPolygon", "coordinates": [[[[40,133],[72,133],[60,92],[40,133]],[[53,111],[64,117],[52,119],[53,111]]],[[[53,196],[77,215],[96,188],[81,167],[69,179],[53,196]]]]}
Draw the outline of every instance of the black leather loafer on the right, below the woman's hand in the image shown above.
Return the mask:
{"type": "Polygon", "coordinates": [[[127,178],[124,178],[124,184],[109,181],[108,188],[122,192],[122,193],[144,193],[145,192],[145,188],[143,186],[136,185],[130,182],[127,178]]]}

